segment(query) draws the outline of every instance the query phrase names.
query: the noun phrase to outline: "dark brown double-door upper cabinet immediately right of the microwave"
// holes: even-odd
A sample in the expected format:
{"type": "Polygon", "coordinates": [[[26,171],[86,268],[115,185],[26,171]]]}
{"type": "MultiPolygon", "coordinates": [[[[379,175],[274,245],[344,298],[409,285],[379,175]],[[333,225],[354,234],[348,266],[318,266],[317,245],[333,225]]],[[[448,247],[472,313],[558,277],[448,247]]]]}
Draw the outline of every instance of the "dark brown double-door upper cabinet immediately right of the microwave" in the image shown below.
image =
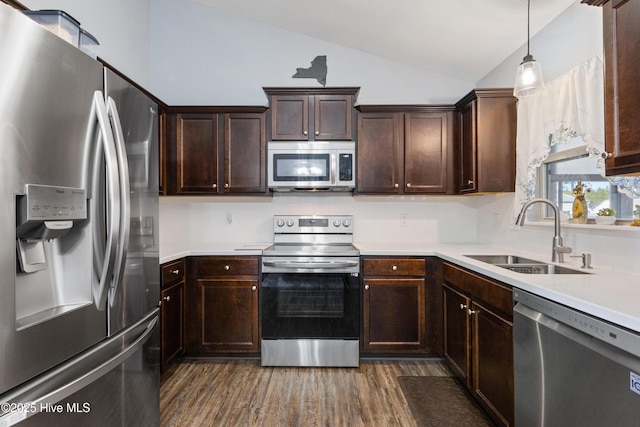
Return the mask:
{"type": "Polygon", "coordinates": [[[456,191],[453,106],[360,106],[360,194],[456,191]]]}

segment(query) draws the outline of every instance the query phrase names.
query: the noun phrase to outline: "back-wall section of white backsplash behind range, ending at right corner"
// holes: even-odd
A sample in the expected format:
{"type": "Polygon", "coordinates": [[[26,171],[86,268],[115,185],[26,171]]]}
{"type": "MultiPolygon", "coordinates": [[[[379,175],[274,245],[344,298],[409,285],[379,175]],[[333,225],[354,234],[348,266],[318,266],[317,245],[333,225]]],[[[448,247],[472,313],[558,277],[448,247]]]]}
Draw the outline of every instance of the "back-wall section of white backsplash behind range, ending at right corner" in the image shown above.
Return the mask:
{"type": "Polygon", "coordinates": [[[357,242],[473,242],[474,198],[286,194],[161,197],[160,244],[273,240],[274,215],[354,215],[357,242]]]}

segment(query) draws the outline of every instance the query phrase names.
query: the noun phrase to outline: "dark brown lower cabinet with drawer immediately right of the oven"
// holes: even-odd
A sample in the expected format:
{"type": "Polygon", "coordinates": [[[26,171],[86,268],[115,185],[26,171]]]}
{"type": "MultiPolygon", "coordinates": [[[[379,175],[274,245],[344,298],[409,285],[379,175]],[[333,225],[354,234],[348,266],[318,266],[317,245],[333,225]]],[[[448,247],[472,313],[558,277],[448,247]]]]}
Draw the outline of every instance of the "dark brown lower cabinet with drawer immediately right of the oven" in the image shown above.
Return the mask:
{"type": "Polygon", "coordinates": [[[424,258],[364,258],[363,272],[363,353],[426,353],[424,258]]]}

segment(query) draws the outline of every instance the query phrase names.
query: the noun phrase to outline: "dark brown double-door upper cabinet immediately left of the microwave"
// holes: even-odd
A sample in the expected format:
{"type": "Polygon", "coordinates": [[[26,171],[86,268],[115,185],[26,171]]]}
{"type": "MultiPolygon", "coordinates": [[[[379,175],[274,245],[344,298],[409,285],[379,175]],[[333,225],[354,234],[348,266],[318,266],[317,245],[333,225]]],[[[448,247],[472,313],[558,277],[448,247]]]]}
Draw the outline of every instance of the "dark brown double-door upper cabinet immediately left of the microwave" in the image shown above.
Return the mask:
{"type": "Polygon", "coordinates": [[[166,194],[268,194],[264,111],[172,107],[166,116],[166,194]]]}

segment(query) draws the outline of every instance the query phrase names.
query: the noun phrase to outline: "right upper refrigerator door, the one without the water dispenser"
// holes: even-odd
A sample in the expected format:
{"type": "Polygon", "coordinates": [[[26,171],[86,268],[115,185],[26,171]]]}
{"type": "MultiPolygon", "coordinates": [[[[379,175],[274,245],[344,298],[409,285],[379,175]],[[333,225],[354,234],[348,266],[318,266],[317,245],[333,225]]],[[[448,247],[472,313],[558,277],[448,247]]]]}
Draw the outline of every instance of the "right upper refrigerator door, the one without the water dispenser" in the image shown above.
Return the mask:
{"type": "Polygon", "coordinates": [[[109,296],[109,333],[114,334],[153,310],[160,300],[158,106],[113,71],[105,68],[104,72],[109,115],[128,165],[128,239],[121,280],[109,296]]]}

